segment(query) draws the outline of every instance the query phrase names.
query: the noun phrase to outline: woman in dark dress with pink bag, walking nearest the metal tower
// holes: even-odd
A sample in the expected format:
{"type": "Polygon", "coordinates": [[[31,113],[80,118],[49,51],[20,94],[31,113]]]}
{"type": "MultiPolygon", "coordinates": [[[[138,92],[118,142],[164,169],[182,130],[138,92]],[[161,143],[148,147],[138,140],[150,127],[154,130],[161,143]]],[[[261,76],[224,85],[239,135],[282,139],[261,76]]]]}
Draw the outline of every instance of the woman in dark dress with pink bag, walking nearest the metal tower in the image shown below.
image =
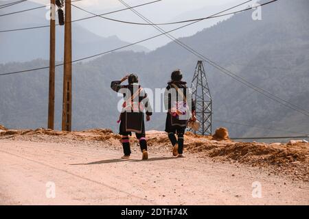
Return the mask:
{"type": "Polygon", "coordinates": [[[187,82],[182,81],[181,70],[174,70],[171,79],[164,93],[165,109],[168,109],[165,131],[172,143],[173,155],[184,157],[183,135],[188,120],[196,120],[195,104],[191,92],[186,86],[187,82]],[[175,134],[177,134],[178,138],[176,138],[175,134]]]}

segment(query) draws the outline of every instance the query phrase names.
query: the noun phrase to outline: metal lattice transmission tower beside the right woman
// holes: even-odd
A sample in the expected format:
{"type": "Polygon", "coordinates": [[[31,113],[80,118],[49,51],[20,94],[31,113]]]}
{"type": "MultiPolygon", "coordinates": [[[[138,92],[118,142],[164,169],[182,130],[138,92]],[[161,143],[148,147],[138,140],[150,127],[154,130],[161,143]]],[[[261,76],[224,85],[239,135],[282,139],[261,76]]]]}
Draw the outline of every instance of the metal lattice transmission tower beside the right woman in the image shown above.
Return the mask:
{"type": "Polygon", "coordinates": [[[196,118],[201,123],[200,129],[194,133],[203,136],[211,135],[212,100],[202,61],[198,61],[196,64],[191,88],[192,98],[196,104],[196,118]]]}

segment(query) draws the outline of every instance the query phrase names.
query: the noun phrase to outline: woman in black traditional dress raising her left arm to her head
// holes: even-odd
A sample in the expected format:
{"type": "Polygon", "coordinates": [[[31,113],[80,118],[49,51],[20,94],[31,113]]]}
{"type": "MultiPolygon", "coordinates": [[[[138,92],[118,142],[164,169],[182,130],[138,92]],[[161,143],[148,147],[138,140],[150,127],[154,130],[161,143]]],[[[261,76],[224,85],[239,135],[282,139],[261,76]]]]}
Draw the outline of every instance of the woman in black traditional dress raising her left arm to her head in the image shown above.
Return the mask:
{"type": "Polygon", "coordinates": [[[132,131],[135,132],[135,136],[139,140],[139,146],[143,153],[142,159],[148,159],[144,111],[146,111],[146,120],[149,121],[152,109],[146,92],[138,82],[138,77],[135,74],[126,75],[120,81],[111,82],[111,88],[122,93],[125,100],[119,118],[119,134],[122,135],[124,149],[122,159],[130,158],[129,136],[132,136],[132,131]],[[121,85],[126,79],[128,79],[128,85],[121,85]]]}

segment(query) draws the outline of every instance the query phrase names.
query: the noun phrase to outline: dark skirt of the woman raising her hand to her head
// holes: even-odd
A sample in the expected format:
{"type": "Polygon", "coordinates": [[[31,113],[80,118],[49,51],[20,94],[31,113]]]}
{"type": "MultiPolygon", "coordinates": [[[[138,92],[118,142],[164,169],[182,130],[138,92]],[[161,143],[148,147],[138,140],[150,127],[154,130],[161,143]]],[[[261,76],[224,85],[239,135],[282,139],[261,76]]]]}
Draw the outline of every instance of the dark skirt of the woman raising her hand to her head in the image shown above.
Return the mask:
{"type": "Polygon", "coordinates": [[[120,116],[121,123],[119,134],[122,136],[131,136],[135,133],[145,134],[145,123],[143,112],[123,112],[120,116]]]}

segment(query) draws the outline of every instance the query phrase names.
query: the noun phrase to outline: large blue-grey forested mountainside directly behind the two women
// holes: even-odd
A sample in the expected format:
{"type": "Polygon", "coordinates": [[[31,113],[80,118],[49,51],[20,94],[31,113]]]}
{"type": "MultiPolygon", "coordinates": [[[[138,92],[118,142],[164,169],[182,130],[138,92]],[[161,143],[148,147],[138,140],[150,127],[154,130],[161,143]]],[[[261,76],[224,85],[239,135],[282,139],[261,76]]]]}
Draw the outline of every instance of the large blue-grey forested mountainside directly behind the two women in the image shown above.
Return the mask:
{"type": "MultiPolygon", "coordinates": [[[[211,60],[286,101],[309,110],[309,1],[280,0],[262,8],[262,21],[251,12],[181,40],[211,60]]],[[[207,22],[207,21],[203,21],[207,22]]],[[[87,49],[91,53],[91,49],[87,49]]],[[[174,68],[191,81],[197,58],[170,43],[151,53],[111,53],[73,66],[73,129],[111,127],[117,130],[117,94],[112,79],[136,72],[148,88],[164,88],[174,68]]],[[[47,61],[0,65],[0,73],[46,66],[47,61]]],[[[308,133],[309,118],[254,92],[205,63],[214,101],[214,119],[282,129],[270,131],[214,122],[225,126],[231,137],[279,136],[308,133]]],[[[60,129],[62,68],[56,77],[56,125],[60,129]]],[[[0,79],[0,123],[5,127],[45,127],[47,70],[3,76],[0,79]]],[[[155,114],[148,129],[164,127],[164,114],[155,114]]]]}

